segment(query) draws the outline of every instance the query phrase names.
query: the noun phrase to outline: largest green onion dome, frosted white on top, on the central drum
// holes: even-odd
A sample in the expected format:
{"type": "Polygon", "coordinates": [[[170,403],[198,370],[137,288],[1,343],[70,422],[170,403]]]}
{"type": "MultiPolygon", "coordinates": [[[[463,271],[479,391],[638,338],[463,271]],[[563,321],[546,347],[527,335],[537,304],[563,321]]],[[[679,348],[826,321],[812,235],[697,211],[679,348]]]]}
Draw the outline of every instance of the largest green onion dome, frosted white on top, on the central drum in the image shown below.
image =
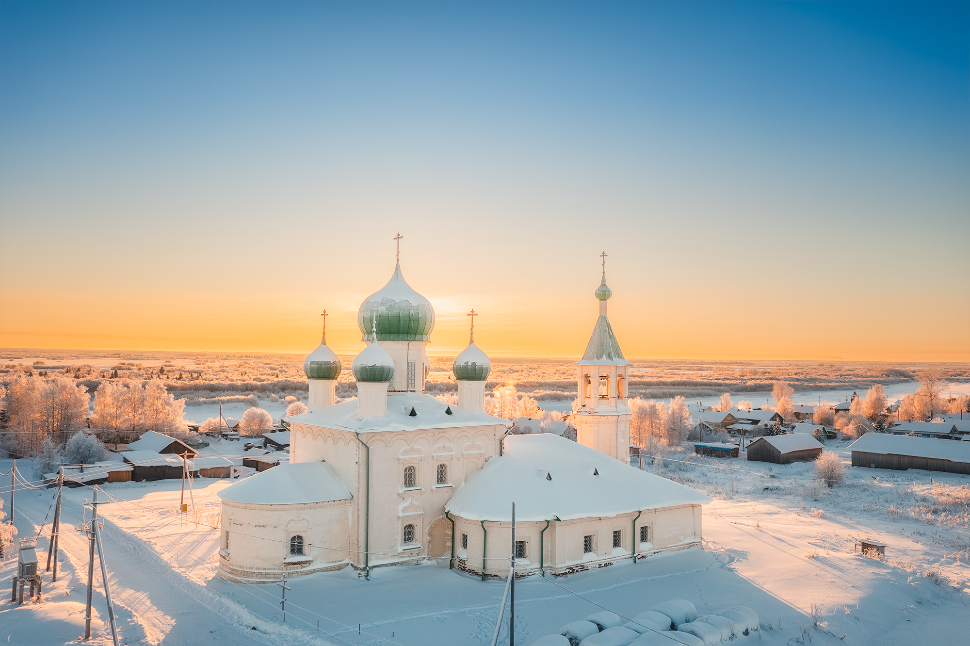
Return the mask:
{"type": "Polygon", "coordinates": [[[367,297],[357,310],[357,325],[365,341],[372,340],[374,311],[377,314],[377,340],[431,340],[435,310],[428,299],[411,289],[404,280],[400,262],[387,284],[367,297]]]}

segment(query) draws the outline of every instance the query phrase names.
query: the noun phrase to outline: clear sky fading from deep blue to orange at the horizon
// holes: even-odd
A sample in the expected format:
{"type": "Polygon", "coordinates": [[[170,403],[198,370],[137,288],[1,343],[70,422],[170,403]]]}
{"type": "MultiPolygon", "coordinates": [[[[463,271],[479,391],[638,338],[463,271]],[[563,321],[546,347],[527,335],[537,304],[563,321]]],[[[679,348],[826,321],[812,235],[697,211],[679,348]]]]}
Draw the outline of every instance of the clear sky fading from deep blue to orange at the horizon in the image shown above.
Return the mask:
{"type": "Polygon", "coordinates": [[[968,18],[2,2],[0,345],[353,349],[401,231],[441,349],[581,351],[605,249],[633,356],[968,360],[968,18]]]}

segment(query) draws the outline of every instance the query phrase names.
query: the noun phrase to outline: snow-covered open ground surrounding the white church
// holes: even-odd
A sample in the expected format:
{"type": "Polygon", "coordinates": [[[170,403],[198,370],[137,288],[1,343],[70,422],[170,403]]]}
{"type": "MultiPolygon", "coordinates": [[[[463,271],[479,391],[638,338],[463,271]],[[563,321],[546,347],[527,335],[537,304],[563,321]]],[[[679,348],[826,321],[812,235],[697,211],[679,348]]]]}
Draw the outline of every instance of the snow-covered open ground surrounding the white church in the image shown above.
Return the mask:
{"type": "MultiPolygon", "coordinates": [[[[828,448],[848,460],[845,442],[828,448]]],[[[221,445],[210,450],[228,452],[221,445]]],[[[658,468],[715,499],[704,508],[703,549],[564,579],[520,581],[517,643],[530,644],[598,606],[632,617],[668,598],[690,599],[702,613],[738,604],[753,608],[761,630],[732,642],[739,645],[809,638],[867,646],[962,642],[970,601],[970,492],[963,487],[970,478],[850,468],[845,486],[827,490],[815,484],[811,465],[718,461],[669,449],[664,455],[663,467],[645,468],[658,468]],[[855,554],[857,537],[888,543],[888,562],[855,554]]],[[[9,468],[10,461],[0,461],[0,469],[9,468]]],[[[191,497],[200,511],[187,519],[176,513],[178,481],[104,486],[115,501],[101,509],[123,643],[490,643],[502,583],[482,583],[433,564],[374,569],[371,581],[349,569],[293,579],[284,625],[278,587],[214,576],[215,494],[228,484],[196,480],[191,497]]],[[[52,490],[18,491],[20,536],[44,523],[52,497],[52,490]]],[[[85,498],[89,490],[65,490],[60,580],[46,584],[44,603],[17,607],[5,600],[0,639],[78,640],[86,541],[74,526],[85,498]]],[[[38,545],[43,561],[47,539],[38,545]]],[[[10,581],[14,567],[8,558],[3,580],[10,581]]],[[[100,575],[95,583],[100,585],[100,575]]],[[[94,602],[102,614],[90,643],[110,643],[100,592],[94,602]]]]}

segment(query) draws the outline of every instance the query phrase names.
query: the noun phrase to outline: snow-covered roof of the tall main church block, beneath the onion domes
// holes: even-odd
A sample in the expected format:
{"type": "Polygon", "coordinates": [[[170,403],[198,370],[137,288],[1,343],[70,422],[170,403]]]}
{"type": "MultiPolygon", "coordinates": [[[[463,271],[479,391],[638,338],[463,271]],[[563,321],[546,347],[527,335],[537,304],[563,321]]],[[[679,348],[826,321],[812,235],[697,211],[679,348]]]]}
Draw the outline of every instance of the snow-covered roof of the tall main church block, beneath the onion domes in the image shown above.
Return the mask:
{"type": "Polygon", "coordinates": [[[324,406],[319,410],[287,417],[291,424],[307,424],[325,429],[352,433],[380,433],[418,431],[421,429],[455,429],[469,426],[511,426],[512,422],[483,412],[469,412],[455,404],[444,404],[431,395],[403,393],[387,398],[387,414],[368,415],[357,419],[357,404],[353,399],[324,406]],[[411,414],[411,411],[414,414],[411,414]],[[450,411],[450,412],[449,412],[450,411]]]}

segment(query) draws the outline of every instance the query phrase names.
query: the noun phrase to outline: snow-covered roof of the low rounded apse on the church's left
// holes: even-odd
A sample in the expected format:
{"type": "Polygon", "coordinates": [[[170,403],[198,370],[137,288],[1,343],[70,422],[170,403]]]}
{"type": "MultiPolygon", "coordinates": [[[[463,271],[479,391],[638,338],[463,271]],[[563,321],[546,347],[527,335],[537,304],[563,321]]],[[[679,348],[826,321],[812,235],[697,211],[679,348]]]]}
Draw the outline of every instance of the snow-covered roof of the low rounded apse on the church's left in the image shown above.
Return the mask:
{"type": "Polygon", "coordinates": [[[217,496],[223,501],[249,504],[306,504],[353,498],[325,462],[268,468],[226,487],[217,496]]]}

